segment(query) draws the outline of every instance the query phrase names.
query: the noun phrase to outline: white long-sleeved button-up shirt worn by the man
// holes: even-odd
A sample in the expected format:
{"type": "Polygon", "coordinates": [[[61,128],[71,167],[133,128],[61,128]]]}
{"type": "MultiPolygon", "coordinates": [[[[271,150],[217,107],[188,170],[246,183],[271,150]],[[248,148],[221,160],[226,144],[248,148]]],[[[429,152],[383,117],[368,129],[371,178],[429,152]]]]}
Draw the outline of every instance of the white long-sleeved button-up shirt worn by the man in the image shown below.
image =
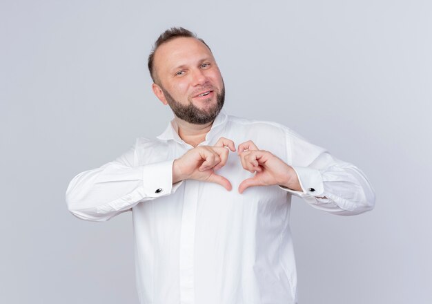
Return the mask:
{"type": "Polygon", "coordinates": [[[217,173],[233,185],[184,180],[172,183],[173,161],[193,146],[171,122],[155,140],[137,139],[130,151],[69,184],[69,210],[104,221],[132,210],[137,292],[144,304],[297,303],[297,278],[289,216],[291,195],[331,213],[373,208],[364,174],[333,158],[280,124],[220,113],[201,145],[219,137],[236,145],[252,140],[296,171],[303,191],[239,184],[253,174],[237,153],[217,173]]]}

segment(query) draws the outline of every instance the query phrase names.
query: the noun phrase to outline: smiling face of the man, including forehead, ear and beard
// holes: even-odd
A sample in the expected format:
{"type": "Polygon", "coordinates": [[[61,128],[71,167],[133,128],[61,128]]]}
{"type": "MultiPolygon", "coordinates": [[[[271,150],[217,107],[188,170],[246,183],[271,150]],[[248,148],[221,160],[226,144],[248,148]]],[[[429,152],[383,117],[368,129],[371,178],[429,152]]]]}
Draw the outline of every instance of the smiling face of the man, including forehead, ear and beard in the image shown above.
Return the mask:
{"type": "Polygon", "coordinates": [[[154,57],[153,91],[175,115],[191,124],[213,122],[224,105],[222,75],[199,40],[179,37],[159,46],[154,57]]]}

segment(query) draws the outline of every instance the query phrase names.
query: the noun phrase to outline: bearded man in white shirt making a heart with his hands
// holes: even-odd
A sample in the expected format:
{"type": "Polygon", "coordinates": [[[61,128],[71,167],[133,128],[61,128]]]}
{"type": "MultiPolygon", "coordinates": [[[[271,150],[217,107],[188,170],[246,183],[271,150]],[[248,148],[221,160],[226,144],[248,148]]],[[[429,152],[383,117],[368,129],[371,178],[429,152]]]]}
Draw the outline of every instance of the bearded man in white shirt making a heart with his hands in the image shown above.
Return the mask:
{"type": "Polygon", "coordinates": [[[69,210],[96,221],[132,211],[142,304],[297,303],[291,196],[348,216],[373,209],[369,181],[286,126],[221,111],[222,75],[189,30],[162,33],[148,68],[174,119],[77,175],[69,210]]]}

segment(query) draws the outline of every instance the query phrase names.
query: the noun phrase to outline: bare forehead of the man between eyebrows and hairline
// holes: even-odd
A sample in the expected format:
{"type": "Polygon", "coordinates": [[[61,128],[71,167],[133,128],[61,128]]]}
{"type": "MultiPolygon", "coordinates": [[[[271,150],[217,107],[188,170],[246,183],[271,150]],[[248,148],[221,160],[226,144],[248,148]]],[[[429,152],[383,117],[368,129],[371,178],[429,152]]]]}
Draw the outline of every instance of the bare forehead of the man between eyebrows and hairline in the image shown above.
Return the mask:
{"type": "Polygon", "coordinates": [[[157,48],[154,64],[155,68],[163,73],[177,66],[195,64],[208,58],[214,59],[210,50],[201,41],[192,37],[179,37],[157,48]]]}

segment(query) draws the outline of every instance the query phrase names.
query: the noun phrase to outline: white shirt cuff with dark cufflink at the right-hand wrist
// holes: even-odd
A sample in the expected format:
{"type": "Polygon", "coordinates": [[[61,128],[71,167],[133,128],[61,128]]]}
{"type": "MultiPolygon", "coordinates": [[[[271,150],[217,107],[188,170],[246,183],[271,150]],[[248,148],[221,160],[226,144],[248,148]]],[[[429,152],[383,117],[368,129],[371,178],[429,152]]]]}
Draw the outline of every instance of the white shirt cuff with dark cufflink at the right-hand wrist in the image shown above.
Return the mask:
{"type": "Polygon", "coordinates": [[[294,167],[293,169],[297,174],[302,191],[291,190],[287,187],[279,187],[285,191],[297,194],[297,196],[324,196],[324,186],[322,184],[322,176],[320,170],[308,167],[294,167]]]}

